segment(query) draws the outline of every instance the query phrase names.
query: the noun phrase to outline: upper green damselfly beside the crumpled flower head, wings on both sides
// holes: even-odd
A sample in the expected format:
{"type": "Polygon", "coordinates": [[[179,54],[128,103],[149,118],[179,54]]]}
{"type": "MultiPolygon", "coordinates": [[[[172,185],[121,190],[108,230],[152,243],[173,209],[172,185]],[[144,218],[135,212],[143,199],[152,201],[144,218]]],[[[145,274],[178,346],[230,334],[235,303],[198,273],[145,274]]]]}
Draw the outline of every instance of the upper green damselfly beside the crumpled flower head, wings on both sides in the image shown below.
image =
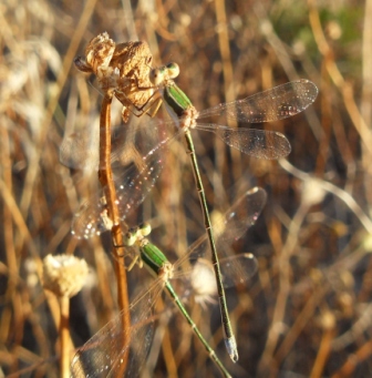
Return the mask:
{"type": "MultiPolygon", "coordinates": [[[[164,131],[167,126],[178,126],[178,134],[183,134],[186,139],[187,147],[192,157],[193,170],[197,183],[197,191],[200,198],[200,204],[204,213],[204,223],[213,251],[213,264],[216,273],[217,287],[219,293],[220,309],[224,329],[226,334],[227,350],[232,360],[238,359],[235,337],[229,325],[228,311],[224,288],[220,283],[220,272],[218,265],[217,249],[214,243],[213,228],[210,227],[207,202],[205,197],[204,186],[199,174],[199,168],[196,160],[194,143],[190,134],[190,129],[199,129],[214,132],[217,136],[224,140],[228,145],[259,159],[278,159],[288,155],[290,145],[288,140],[278,132],[254,130],[245,127],[227,127],[218,124],[200,124],[199,120],[210,116],[223,116],[241,122],[268,122],[282,120],[308,108],[317,98],[317,86],[308,80],[298,80],[289,82],[268,91],[257,93],[244,100],[234,101],[231,103],[219,104],[211,109],[197,112],[186,94],[176,85],[174,78],[179,73],[178,65],[169,63],[159,69],[153,70],[151,79],[155,86],[159,89],[164,102],[167,105],[169,113],[174,116],[173,122],[152,122],[146,124],[146,130],[149,130],[152,135],[159,139],[159,143],[152,144],[152,147],[143,155],[138,163],[140,168],[124,171],[116,180],[117,206],[122,219],[134,210],[144,200],[146,194],[152,190],[164,162],[162,157],[163,150],[167,146],[173,137],[164,131]],[[142,164],[142,166],[141,166],[142,164]]],[[[177,134],[177,135],[178,135],[177,134]]],[[[132,137],[133,139],[133,137],[132,137]]],[[[131,137],[125,139],[125,143],[131,137]]],[[[141,143],[147,143],[147,137],[137,137],[141,143]]],[[[79,149],[70,149],[79,150],[79,149]]],[[[81,149],[82,150],[82,149],[81,149]]],[[[125,150],[135,150],[133,145],[125,150]]],[[[121,151],[113,153],[114,157],[121,151]]],[[[69,154],[66,154],[69,155],[69,154]]],[[[141,155],[141,153],[137,153],[141,155]]],[[[95,200],[90,201],[81,207],[76,214],[72,225],[72,232],[78,237],[90,237],[94,234],[110,228],[112,223],[106,215],[105,202],[102,201],[102,192],[95,200]]]]}

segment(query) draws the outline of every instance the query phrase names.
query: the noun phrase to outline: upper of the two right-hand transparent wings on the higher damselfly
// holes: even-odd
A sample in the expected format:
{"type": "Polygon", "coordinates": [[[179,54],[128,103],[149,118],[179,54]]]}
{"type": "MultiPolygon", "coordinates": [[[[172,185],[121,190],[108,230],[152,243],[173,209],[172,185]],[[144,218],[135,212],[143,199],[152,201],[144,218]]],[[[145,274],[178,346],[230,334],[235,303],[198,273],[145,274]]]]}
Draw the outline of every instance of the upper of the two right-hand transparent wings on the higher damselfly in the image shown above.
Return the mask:
{"type": "Polygon", "coordinates": [[[219,115],[247,123],[272,122],[298,114],[311,105],[318,88],[301,79],[275,86],[244,100],[219,104],[199,113],[198,119],[219,115]]]}

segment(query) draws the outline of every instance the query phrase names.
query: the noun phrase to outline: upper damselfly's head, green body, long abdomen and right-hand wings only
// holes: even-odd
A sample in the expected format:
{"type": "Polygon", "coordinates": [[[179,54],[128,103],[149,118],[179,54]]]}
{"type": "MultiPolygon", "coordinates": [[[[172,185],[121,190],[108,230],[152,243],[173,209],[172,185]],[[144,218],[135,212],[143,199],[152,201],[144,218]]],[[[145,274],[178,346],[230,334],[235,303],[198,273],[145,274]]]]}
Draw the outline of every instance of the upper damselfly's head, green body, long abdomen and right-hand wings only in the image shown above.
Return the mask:
{"type": "Polygon", "coordinates": [[[242,122],[267,122],[285,119],[294,115],[309,106],[317,98],[318,89],[308,80],[299,80],[279,85],[248,99],[220,104],[199,113],[185,92],[183,92],[174,82],[173,79],[175,79],[178,73],[178,65],[176,63],[169,63],[152,70],[149,79],[153,84],[159,89],[168,113],[185,136],[203,210],[204,225],[211,249],[211,262],[218,288],[225,344],[229,356],[232,361],[236,362],[238,360],[238,351],[228,316],[214,232],[190,130],[197,127],[208,131],[221,131],[220,136],[228,145],[257,157],[276,159],[285,156],[290,152],[290,145],[287,139],[280,133],[236,127],[231,129],[210,124],[198,125],[198,120],[221,114],[226,114],[229,119],[242,122]]]}

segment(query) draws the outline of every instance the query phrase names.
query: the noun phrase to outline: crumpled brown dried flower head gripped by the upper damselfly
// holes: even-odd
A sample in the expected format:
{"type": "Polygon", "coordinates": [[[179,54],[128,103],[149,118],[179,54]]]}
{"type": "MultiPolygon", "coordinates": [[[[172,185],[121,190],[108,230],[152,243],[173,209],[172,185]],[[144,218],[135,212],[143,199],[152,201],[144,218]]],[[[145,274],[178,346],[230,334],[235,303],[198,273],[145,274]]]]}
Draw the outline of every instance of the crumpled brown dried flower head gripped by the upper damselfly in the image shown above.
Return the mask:
{"type": "Polygon", "coordinates": [[[91,40],[85,57],[76,57],[74,63],[80,71],[94,73],[105,93],[113,91],[127,122],[130,112],[138,115],[154,93],[148,79],[152,61],[146,42],[115,44],[104,32],[91,40]]]}

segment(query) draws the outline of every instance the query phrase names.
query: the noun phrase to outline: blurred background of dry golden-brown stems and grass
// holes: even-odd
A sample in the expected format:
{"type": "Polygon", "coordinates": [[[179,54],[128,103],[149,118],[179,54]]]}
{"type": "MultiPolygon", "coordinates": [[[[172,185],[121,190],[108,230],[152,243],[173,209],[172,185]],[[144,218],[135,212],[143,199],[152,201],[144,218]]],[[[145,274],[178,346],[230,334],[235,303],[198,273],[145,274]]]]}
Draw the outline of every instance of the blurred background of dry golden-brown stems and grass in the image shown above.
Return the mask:
{"type": "MultiPolygon", "coordinates": [[[[221,343],[218,307],[190,299],[188,309],[234,377],[370,376],[371,18],[370,0],[2,1],[0,376],[59,376],[59,306],[40,283],[46,254],[73,253],[90,265],[86,286],[71,299],[75,347],[116,314],[110,236],[71,235],[96,173],[59,162],[65,132],[97,127],[102,96],[73,58],[103,31],[117,43],[146,41],[154,65],[177,62],[176,82],[198,110],[300,78],[317,84],[319,96],[303,113],[254,125],[285,133],[287,160],[252,159],[194,133],[211,211],[226,211],[256,185],[268,202],[235,245],[258,259],[248,285],[227,290],[238,364],[221,343]]],[[[115,124],[120,112],[116,102],[115,124]]],[[[138,210],[153,241],[179,256],[204,233],[182,144],[172,144],[138,210]]],[[[128,273],[131,297],[152,282],[142,270],[128,273]]],[[[143,375],[217,376],[185,319],[163,316],[163,302],[156,313],[143,375]]]]}

